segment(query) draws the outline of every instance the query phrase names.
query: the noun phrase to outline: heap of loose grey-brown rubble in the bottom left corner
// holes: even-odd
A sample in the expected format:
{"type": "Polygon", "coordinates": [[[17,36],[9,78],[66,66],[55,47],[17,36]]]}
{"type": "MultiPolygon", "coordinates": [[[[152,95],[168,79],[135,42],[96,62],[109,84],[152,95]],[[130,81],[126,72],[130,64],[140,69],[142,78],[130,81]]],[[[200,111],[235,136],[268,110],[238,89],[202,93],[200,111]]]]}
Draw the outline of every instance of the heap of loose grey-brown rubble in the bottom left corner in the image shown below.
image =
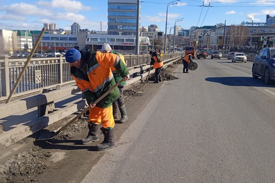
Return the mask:
{"type": "Polygon", "coordinates": [[[34,147],[27,152],[18,153],[0,165],[0,178],[3,183],[35,182],[40,174],[48,167],[46,162],[51,154],[43,152],[41,148],[34,147]]]}

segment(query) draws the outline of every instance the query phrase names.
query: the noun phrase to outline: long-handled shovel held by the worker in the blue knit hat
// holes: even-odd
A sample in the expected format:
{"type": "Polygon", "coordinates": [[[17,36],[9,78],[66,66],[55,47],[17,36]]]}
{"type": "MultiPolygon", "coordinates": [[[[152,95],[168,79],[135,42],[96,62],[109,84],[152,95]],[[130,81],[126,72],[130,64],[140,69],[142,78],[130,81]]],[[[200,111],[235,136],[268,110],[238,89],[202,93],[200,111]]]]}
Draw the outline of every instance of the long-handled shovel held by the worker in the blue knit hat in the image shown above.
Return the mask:
{"type": "MultiPolygon", "coordinates": [[[[96,101],[94,101],[93,104],[97,104],[101,99],[103,99],[106,95],[108,95],[112,90],[114,90],[119,84],[121,84],[123,80],[120,80],[118,83],[116,83],[112,88],[110,88],[108,91],[106,91],[103,95],[101,95],[96,101]]],[[[70,124],[72,124],[75,120],[77,120],[79,117],[81,117],[82,114],[86,113],[90,109],[90,105],[84,109],[81,113],[79,113],[76,117],[74,117],[72,120],[70,120],[67,124],[65,124],[63,127],[61,127],[57,132],[50,132],[47,137],[43,136],[42,138],[39,137],[37,140],[49,140],[57,136],[61,131],[63,131],[66,127],[68,127],[70,124]]]]}

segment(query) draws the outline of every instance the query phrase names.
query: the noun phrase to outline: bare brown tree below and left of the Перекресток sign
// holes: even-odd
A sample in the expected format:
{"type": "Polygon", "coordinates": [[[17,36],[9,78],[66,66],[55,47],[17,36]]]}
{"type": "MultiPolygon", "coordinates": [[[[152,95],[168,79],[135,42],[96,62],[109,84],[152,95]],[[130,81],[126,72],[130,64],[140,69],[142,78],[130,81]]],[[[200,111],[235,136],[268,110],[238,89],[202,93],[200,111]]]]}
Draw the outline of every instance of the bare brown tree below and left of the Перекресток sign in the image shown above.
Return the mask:
{"type": "Polygon", "coordinates": [[[241,45],[245,45],[249,36],[249,29],[241,25],[231,25],[228,30],[229,44],[238,49],[241,45]]]}

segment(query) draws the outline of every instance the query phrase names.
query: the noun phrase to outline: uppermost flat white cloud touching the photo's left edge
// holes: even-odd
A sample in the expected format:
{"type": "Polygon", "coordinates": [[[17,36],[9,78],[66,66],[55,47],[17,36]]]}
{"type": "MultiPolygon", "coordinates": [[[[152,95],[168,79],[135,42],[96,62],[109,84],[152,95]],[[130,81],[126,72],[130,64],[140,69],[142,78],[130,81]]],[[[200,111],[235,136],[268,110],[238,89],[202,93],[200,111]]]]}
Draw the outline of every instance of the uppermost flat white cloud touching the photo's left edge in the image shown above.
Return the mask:
{"type": "Polygon", "coordinates": [[[39,9],[35,5],[27,4],[24,2],[15,3],[11,5],[5,5],[0,7],[0,11],[5,11],[7,14],[14,14],[14,15],[48,15],[51,12],[45,9],[39,9]]]}

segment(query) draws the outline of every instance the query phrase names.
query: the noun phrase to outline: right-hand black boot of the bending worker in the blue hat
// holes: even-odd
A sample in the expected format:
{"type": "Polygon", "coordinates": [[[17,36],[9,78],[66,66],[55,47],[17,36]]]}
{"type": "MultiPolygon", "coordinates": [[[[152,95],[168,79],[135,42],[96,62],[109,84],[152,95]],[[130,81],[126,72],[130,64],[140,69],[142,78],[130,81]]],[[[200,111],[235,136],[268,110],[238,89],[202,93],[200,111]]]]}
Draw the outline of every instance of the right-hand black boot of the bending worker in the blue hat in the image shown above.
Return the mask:
{"type": "Polygon", "coordinates": [[[108,130],[106,128],[101,127],[100,128],[103,135],[104,140],[101,142],[101,144],[96,145],[97,151],[105,151],[107,149],[113,148],[116,146],[115,140],[114,140],[114,130],[108,130]]]}

